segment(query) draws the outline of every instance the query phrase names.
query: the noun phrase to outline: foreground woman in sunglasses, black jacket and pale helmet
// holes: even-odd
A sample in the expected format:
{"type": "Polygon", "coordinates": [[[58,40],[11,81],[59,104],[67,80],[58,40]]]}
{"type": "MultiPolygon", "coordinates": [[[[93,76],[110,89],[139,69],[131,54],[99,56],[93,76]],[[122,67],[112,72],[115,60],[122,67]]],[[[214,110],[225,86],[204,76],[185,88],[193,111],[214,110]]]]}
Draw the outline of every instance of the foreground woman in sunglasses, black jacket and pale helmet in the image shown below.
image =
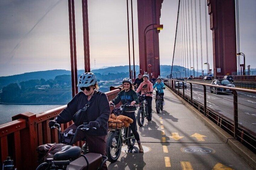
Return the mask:
{"type": "MultiPolygon", "coordinates": [[[[68,103],[67,107],[54,119],[49,121],[49,127],[55,123],[67,123],[71,120],[75,124],[70,125],[64,132],[76,128],[83,122],[89,122],[88,131],[79,131],[75,141],[81,141],[86,137],[88,148],[92,153],[100,153],[106,156],[107,121],[110,116],[110,107],[106,94],[97,91],[99,89],[97,79],[93,73],[84,73],[79,77],[78,87],[81,91],[68,103]],[[86,112],[81,114],[78,121],[73,118],[78,110],[88,104],[86,112]],[[96,129],[94,129],[94,128],[96,129]]],[[[106,163],[102,169],[107,169],[106,163]]]]}

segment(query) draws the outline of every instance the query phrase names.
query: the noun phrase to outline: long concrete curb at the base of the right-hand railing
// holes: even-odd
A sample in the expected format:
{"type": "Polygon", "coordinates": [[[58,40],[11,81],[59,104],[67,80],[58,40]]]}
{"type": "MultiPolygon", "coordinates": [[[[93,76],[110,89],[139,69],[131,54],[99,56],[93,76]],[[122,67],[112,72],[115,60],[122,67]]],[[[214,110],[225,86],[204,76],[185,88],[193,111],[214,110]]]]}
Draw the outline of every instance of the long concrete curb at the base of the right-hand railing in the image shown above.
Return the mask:
{"type": "Polygon", "coordinates": [[[174,96],[176,96],[186,107],[188,107],[191,110],[191,112],[195,114],[195,116],[202,120],[210,129],[212,129],[220,138],[222,138],[224,142],[229,144],[229,146],[242,158],[244,158],[245,161],[247,161],[253,168],[256,167],[256,155],[251,150],[249,150],[247,147],[245,147],[243,144],[237,141],[234,137],[232,137],[230,134],[224,131],[221,127],[219,127],[206,116],[204,116],[196,108],[194,108],[189,103],[184,101],[180,96],[178,96],[178,94],[174,93],[169,88],[168,90],[172,94],[174,94],[174,96]]]}

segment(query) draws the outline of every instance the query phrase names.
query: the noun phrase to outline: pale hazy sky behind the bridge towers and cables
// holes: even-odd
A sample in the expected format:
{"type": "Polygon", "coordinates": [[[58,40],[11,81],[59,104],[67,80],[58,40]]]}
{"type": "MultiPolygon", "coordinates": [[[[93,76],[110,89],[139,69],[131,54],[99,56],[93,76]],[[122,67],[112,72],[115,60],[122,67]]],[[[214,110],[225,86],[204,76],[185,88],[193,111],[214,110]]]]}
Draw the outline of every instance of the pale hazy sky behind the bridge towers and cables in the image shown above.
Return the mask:
{"type": "MultiPolygon", "coordinates": [[[[201,5],[203,62],[206,62],[204,0],[201,5]]],[[[256,68],[256,0],[239,0],[239,9],[240,52],[245,53],[246,63],[256,68]]],[[[159,33],[160,64],[163,65],[171,65],[177,11],[178,0],[164,0],[160,18],[164,29],[159,33]]],[[[197,13],[199,15],[199,11],[197,13]]],[[[70,70],[68,0],[1,0],[0,16],[0,76],[41,70],[70,70]]],[[[94,67],[94,58],[96,67],[128,65],[126,0],[88,0],[88,17],[91,68],[94,67]]],[[[135,63],[139,64],[136,0],[133,0],[133,18],[135,63]]],[[[208,14],[207,22],[209,24],[208,14]]],[[[75,0],[75,24],[78,69],[83,69],[81,0],[75,0]]],[[[209,63],[212,68],[211,32],[208,30],[209,63]]]]}

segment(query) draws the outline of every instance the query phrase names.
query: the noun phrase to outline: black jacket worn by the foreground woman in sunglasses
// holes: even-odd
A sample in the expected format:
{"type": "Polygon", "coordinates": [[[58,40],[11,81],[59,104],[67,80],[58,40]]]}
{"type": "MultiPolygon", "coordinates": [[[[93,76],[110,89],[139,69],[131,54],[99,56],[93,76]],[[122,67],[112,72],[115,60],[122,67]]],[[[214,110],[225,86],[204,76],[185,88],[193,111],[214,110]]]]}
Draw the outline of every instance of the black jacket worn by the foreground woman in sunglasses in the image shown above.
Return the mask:
{"type": "MultiPolygon", "coordinates": [[[[56,117],[57,123],[66,123],[72,120],[74,114],[82,109],[88,103],[87,97],[82,91],[68,103],[67,107],[62,110],[56,117]]],[[[89,135],[102,136],[107,135],[107,121],[110,116],[110,107],[105,93],[94,91],[94,97],[90,106],[86,110],[87,116],[83,122],[97,121],[100,127],[86,131],[89,135]]]]}

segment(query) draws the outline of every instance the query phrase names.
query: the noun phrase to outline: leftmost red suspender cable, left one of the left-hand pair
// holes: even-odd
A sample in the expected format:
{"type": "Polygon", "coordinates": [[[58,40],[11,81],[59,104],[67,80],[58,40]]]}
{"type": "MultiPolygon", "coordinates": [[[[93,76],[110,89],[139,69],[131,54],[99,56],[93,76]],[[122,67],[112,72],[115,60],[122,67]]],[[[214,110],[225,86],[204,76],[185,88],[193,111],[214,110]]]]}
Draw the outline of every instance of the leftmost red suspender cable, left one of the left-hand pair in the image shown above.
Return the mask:
{"type": "Polygon", "coordinates": [[[70,40],[71,83],[72,83],[72,97],[74,97],[75,96],[75,81],[74,81],[74,56],[73,56],[71,0],[68,1],[68,4],[69,4],[69,40],[70,40]]]}

